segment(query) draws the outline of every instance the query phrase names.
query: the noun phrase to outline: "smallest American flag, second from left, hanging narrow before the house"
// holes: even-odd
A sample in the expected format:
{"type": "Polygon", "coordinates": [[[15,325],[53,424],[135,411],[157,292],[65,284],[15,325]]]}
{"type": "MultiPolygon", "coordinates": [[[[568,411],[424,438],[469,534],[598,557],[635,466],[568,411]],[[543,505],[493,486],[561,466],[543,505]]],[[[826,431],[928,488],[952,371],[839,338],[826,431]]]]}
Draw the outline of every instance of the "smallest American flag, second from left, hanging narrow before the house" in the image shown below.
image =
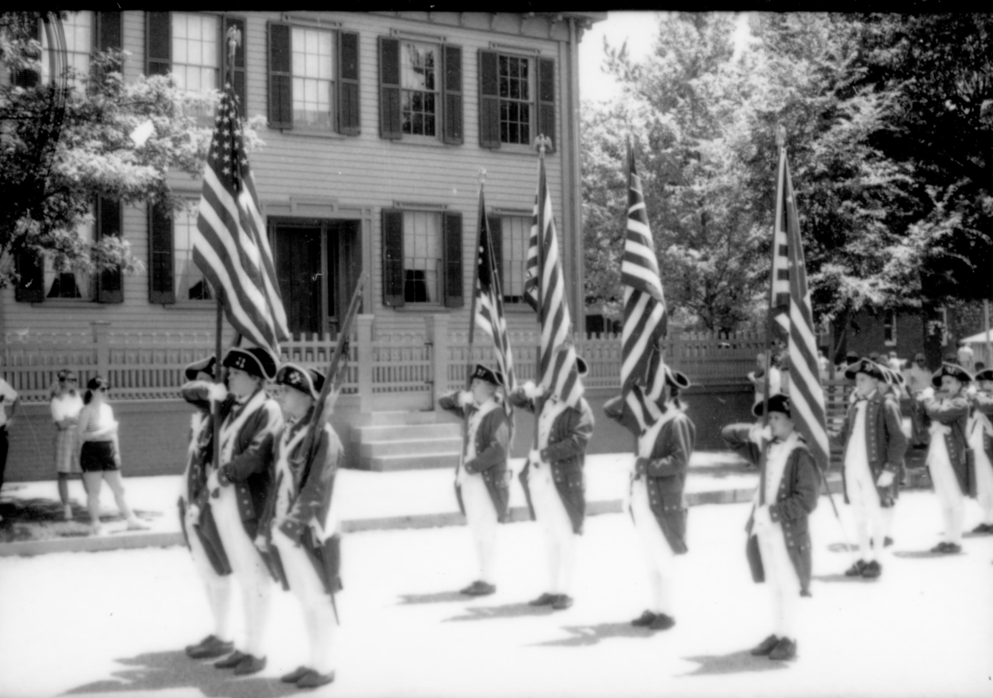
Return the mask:
{"type": "Polygon", "coordinates": [[[503,318],[503,291],[500,289],[497,265],[494,260],[494,247],[487,220],[487,204],[480,188],[480,249],[477,259],[475,322],[480,329],[493,337],[494,356],[497,369],[503,374],[503,409],[509,415],[512,411],[506,400],[515,383],[513,357],[510,355],[510,338],[506,333],[503,318]]]}

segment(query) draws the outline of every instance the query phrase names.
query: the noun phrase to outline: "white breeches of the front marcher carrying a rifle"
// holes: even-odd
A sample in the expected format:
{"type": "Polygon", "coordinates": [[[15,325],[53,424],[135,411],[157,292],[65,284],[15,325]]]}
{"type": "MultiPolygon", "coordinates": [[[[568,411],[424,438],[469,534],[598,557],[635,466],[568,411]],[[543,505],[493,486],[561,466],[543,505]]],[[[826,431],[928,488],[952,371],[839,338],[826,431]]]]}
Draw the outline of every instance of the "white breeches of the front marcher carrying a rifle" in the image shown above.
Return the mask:
{"type": "Polygon", "coordinates": [[[338,637],[338,620],[331,605],[331,595],[324,590],[317,570],[301,546],[275,527],[272,542],[279,550],[290,592],[300,602],[310,638],[310,659],[304,665],[319,674],[331,673],[335,669],[335,640],[338,637]]]}

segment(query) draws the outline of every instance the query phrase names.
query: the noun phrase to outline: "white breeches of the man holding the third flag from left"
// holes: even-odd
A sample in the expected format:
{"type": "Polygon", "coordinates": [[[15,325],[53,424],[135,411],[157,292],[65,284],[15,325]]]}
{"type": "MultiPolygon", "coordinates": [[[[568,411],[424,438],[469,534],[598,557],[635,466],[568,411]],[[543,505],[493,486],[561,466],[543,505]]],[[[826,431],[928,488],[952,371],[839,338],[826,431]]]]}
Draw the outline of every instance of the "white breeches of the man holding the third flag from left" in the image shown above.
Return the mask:
{"type": "Polygon", "coordinates": [[[572,521],[555,489],[551,466],[542,463],[535,468],[532,464],[528,475],[534,517],[545,531],[548,591],[571,595],[578,536],[572,531],[572,521]]]}

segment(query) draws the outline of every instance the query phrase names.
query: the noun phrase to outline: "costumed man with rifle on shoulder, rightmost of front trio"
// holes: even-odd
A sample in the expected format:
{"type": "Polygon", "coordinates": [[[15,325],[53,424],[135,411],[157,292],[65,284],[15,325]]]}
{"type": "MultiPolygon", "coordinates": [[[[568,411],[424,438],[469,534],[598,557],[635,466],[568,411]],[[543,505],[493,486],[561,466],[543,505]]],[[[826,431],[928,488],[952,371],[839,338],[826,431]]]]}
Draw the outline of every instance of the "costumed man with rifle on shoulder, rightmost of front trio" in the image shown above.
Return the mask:
{"type": "MultiPolygon", "coordinates": [[[[282,676],[299,688],[317,688],[335,680],[334,644],[338,618],[334,594],[341,591],[341,533],[335,511],[335,476],[341,467],[342,442],[328,422],[329,404],[316,441],[305,452],[314,430],[317,401],[325,377],[316,369],[292,363],[276,373],[276,402],[283,427],[275,441],[275,478],[259,523],[256,545],[275,548],[282,581],[300,602],[310,640],[306,663],[282,676]]],[[[271,553],[270,553],[271,554],[271,553]]]]}

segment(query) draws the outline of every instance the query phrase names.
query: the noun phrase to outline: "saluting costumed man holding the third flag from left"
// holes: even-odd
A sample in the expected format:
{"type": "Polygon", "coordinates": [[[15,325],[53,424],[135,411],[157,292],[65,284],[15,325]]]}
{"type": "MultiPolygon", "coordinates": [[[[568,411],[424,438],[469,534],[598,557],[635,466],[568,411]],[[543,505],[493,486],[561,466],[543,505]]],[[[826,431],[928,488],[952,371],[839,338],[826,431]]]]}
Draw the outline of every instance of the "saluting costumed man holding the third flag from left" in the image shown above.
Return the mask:
{"type": "MultiPolygon", "coordinates": [[[[576,357],[577,380],[587,373],[576,357]]],[[[562,611],[573,604],[573,577],[579,536],[586,518],[583,466],[593,434],[593,410],[583,397],[570,406],[542,386],[528,381],[509,397],[514,407],[537,413],[537,446],[528,453],[521,484],[528,494],[534,521],[544,529],[548,586],[531,606],[562,611]]]]}

